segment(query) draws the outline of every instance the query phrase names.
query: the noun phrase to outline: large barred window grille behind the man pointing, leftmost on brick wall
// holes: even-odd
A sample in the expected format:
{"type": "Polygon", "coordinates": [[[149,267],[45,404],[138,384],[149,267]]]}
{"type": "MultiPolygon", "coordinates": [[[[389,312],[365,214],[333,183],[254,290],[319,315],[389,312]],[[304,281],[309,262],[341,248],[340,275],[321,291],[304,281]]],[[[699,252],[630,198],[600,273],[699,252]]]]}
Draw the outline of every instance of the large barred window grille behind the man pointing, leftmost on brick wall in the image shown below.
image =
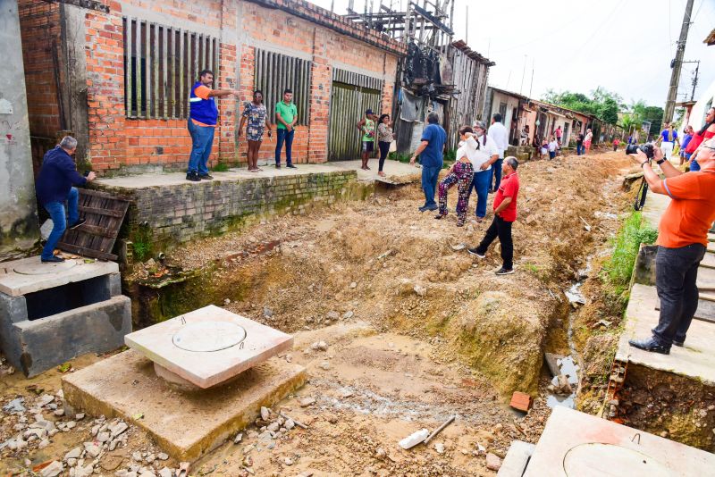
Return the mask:
{"type": "Polygon", "coordinates": [[[126,116],[186,119],[198,72],[219,64],[216,38],[131,17],[123,27],[126,116]]]}

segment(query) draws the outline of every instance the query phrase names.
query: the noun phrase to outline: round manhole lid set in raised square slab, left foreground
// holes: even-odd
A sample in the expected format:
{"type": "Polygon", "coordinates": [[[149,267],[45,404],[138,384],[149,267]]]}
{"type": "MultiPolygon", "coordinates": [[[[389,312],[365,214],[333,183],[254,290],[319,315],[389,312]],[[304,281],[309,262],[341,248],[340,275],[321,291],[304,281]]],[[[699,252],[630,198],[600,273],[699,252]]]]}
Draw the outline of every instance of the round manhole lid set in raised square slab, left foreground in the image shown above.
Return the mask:
{"type": "Polygon", "coordinates": [[[194,322],[173,335],[173,344],[186,351],[211,352],[235,347],[246,339],[246,330],[232,322],[194,322]]]}

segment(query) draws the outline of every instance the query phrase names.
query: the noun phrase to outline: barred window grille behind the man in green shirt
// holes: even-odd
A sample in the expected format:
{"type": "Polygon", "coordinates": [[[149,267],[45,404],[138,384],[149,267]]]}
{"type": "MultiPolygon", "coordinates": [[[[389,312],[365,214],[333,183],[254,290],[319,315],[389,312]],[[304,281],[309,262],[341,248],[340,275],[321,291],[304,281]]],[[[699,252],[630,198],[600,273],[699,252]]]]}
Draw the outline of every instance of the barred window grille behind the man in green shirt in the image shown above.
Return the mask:
{"type": "Polygon", "coordinates": [[[271,122],[275,122],[275,105],[283,98],[283,91],[293,91],[293,103],[298,108],[298,124],[308,124],[312,62],[287,54],[256,49],[254,84],[263,91],[264,105],[271,122]]]}

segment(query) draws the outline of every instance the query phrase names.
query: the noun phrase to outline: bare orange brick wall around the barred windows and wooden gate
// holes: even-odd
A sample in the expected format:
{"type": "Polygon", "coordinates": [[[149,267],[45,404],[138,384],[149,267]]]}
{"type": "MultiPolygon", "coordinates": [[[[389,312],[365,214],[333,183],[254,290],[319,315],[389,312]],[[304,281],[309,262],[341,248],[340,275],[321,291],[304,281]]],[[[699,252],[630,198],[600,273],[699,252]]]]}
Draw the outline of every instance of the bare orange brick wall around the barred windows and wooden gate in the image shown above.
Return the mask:
{"type": "MultiPolygon", "coordinates": [[[[313,4],[302,0],[103,0],[102,3],[109,7],[109,13],[82,10],[86,30],[83,51],[87,63],[87,155],[92,168],[101,174],[141,172],[153,166],[184,170],[191,149],[186,120],[126,117],[122,15],[128,13],[122,12],[122,8],[127,11],[133,9],[134,15],[138,11],[150,13],[155,19],[166,19],[164,23],[167,26],[179,24],[181,29],[189,31],[197,25],[215,31],[220,29],[220,35],[216,35],[221,42],[218,68],[214,68],[217,70],[214,71],[215,87],[240,89],[241,97],[238,100],[232,96],[217,100],[219,121],[210,158],[212,165],[218,162],[246,162],[248,145],[245,137],[237,138],[237,129],[243,104],[251,100],[254,89],[257,45],[285,54],[299,52],[313,61],[309,123],[296,128],[293,143],[293,156],[297,163],[326,160],[332,67],[345,68],[347,65],[364,71],[364,74],[390,79],[385,84],[383,107],[391,111],[397,55],[388,53],[388,50],[399,51],[401,46],[376,32],[353,26],[313,4]],[[271,8],[273,6],[277,8],[271,8]],[[292,10],[287,12],[285,9],[292,10]],[[186,24],[181,21],[186,21],[186,24]],[[331,28],[339,29],[341,33],[331,28]],[[239,38],[247,39],[238,44],[239,38]]],[[[26,61],[30,67],[26,65],[26,71],[34,75],[28,77],[28,85],[36,85],[33,91],[38,93],[34,96],[29,91],[30,123],[34,121],[38,125],[38,133],[54,137],[60,130],[59,103],[53,101],[56,90],[48,84],[43,73],[48,71],[52,61],[47,53],[47,45],[51,45],[52,40],[46,35],[59,38],[59,23],[52,20],[57,16],[58,7],[43,0],[22,0],[21,4],[25,12],[23,21],[27,25],[32,25],[32,21],[46,22],[47,18],[52,23],[51,29],[45,29],[45,36],[38,32],[28,34],[26,61]]],[[[65,5],[65,8],[78,7],[65,5]]],[[[139,17],[139,20],[149,19],[139,17]]],[[[23,31],[25,29],[23,26],[23,31]]],[[[61,64],[60,69],[66,66],[61,64]]],[[[273,109],[274,105],[266,107],[273,109]]],[[[275,137],[269,139],[266,135],[261,158],[272,159],[274,148],[275,137]]]]}

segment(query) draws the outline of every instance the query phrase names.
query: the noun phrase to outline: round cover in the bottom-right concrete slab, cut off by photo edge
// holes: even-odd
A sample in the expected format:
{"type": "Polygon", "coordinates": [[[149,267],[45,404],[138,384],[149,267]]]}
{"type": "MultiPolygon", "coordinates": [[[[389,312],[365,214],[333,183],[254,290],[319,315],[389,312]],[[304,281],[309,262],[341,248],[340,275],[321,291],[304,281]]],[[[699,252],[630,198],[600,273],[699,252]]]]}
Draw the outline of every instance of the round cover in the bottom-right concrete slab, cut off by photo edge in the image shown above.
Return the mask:
{"type": "Polygon", "coordinates": [[[571,448],[564,456],[564,471],[569,477],[675,477],[652,456],[631,448],[592,442],[571,448]]]}

